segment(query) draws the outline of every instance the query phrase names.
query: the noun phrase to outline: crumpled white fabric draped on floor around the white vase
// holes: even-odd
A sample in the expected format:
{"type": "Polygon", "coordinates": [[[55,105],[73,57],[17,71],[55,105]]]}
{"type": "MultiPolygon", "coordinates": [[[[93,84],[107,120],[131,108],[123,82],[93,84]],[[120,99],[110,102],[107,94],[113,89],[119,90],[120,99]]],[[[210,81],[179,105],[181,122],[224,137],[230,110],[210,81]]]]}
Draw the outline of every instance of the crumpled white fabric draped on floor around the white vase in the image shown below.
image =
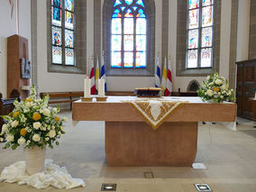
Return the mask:
{"type": "Polygon", "coordinates": [[[27,185],[36,188],[57,187],[73,188],[86,187],[80,178],[72,178],[66,167],[59,168],[53,164],[53,160],[45,160],[44,171],[29,175],[26,171],[25,161],[17,161],[9,167],[5,167],[0,175],[0,181],[7,183],[17,182],[19,185],[27,185]]]}

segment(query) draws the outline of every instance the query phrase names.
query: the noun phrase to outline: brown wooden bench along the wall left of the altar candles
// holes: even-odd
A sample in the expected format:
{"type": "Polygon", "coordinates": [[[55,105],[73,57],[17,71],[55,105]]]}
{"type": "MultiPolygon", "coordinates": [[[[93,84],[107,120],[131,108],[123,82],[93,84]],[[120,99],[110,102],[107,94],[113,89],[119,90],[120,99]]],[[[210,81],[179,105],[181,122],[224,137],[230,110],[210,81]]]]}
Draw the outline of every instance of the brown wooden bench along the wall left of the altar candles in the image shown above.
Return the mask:
{"type": "Polygon", "coordinates": [[[40,94],[41,98],[47,95],[50,96],[49,104],[69,103],[70,110],[72,110],[72,102],[77,101],[80,96],[84,96],[84,92],[83,91],[42,92],[40,94]],[[51,100],[51,98],[58,99],[58,100],[51,100]]]}

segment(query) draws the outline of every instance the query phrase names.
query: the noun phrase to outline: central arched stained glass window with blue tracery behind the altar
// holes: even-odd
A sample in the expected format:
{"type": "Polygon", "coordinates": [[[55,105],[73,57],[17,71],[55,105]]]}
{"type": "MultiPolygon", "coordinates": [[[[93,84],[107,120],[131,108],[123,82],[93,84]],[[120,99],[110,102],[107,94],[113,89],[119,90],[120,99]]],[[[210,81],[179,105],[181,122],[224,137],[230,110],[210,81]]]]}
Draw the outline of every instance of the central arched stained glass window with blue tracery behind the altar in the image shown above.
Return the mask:
{"type": "Polygon", "coordinates": [[[147,17],[142,0],[115,0],[111,20],[111,68],[146,68],[147,17]]]}

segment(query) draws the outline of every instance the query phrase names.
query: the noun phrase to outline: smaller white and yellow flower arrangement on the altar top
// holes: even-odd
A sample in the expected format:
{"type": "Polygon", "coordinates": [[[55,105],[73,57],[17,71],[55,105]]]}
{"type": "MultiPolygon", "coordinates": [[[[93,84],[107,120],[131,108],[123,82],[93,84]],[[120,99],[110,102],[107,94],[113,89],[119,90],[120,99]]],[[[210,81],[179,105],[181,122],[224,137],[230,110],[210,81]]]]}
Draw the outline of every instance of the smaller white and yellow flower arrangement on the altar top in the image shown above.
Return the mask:
{"type": "Polygon", "coordinates": [[[228,81],[224,77],[220,77],[217,72],[203,81],[203,85],[197,90],[197,94],[204,102],[235,101],[233,88],[229,89],[228,81]]]}

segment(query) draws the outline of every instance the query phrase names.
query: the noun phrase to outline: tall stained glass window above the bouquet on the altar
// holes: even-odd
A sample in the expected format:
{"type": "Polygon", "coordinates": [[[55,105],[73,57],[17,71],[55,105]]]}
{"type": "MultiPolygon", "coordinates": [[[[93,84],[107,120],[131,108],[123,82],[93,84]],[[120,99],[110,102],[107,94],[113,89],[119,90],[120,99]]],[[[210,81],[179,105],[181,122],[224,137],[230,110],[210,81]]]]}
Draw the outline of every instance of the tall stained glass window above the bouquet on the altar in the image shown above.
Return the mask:
{"type": "Polygon", "coordinates": [[[188,0],[187,69],[211,68],[214,0],[188,0]]]}

